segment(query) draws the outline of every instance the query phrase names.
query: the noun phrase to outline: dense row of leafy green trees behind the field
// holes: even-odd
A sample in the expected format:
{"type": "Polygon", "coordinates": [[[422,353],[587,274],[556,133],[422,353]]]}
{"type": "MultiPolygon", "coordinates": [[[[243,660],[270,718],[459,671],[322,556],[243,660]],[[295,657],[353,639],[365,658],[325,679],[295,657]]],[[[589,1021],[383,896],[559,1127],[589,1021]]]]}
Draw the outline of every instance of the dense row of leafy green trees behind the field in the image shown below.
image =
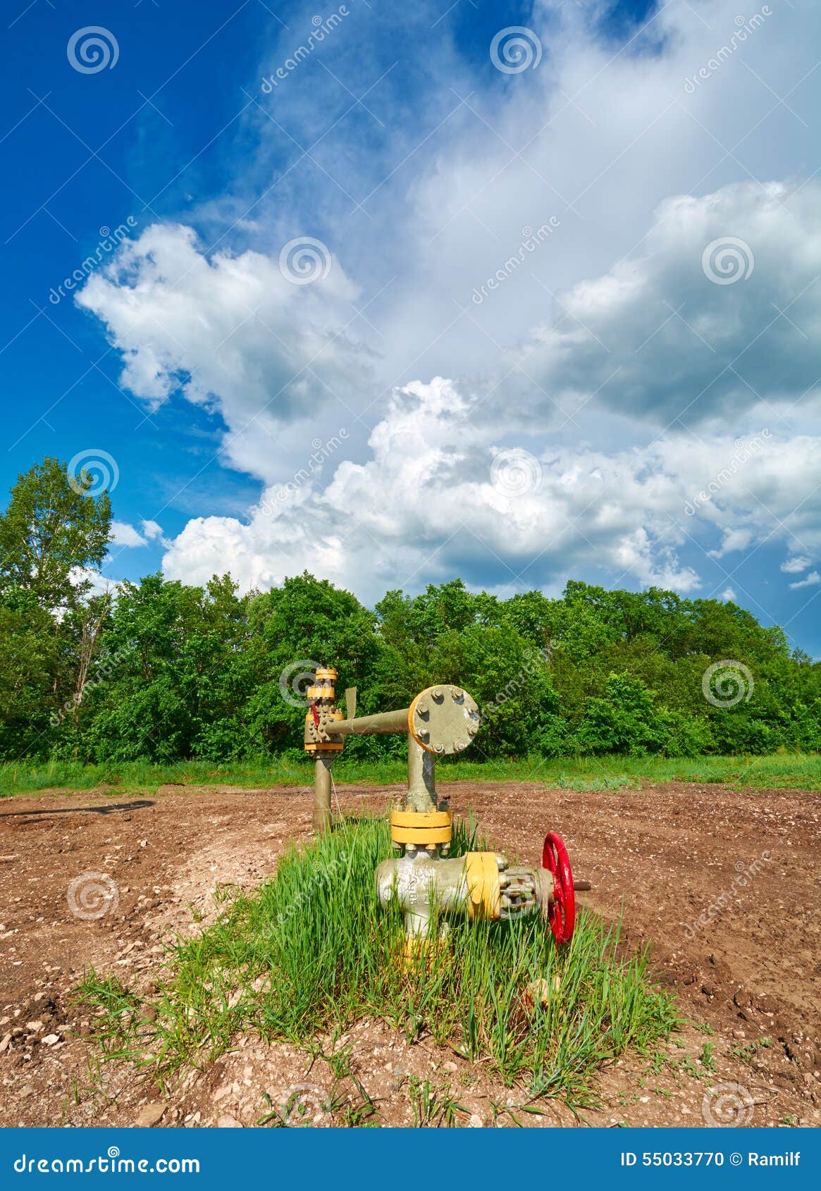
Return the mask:
{"type": "Polygon", "coordinates": [[[465,686],[484,721],[473,759],[821,749],[821,666],[733,603],[578,581],[560,599],[499,599],[454,579],[368,609],[307,573],[248,594],[230,575],[162,574],[100,594],[111,505],[91,487],[45,459],[0,516],[2,760],[301,752],[291,680],[311,662],[337,667],[337,691],[357,686],[363,715],[465,686]]]}

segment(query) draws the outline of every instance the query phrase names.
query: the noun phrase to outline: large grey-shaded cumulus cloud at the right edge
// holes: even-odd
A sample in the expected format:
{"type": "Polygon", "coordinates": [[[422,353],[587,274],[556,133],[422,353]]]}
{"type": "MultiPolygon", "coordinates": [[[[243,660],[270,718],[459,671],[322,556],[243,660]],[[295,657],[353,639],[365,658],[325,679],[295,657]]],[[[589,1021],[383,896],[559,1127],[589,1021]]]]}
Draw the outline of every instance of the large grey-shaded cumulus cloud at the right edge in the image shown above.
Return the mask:
{"type": "Polygon", "coordinates": [[[663,426],[792,405],[821,375],[820,200],[755,182],[666,200],[642,256],[579,282],[512,353],[539,381],[531,405],[596,393],[663,426]]]}

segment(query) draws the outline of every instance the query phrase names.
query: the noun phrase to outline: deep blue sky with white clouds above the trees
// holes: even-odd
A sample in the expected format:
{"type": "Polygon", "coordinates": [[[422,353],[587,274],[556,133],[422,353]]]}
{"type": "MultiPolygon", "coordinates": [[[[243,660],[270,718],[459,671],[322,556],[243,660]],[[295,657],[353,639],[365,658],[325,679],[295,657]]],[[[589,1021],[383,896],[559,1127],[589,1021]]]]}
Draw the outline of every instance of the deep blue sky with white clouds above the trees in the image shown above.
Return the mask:
{"type": "Polygon", "coordinates": [[[0,480],[101,457],[111,579],[657,584],[821,654],[809,0],[5,19],[0,480]]]}

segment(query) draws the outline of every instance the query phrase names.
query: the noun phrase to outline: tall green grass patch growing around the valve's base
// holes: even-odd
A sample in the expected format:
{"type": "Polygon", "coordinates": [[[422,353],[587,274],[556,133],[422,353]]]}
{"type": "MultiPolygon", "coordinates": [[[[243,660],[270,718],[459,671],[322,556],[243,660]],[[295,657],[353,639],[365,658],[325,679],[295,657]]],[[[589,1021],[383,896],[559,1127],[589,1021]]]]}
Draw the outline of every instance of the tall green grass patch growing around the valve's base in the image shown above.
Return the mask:
{"type": "MultiPolygon", "coordinates": [[[[454,854],[475,847],[454,828],[454,854]]],[[[648,979],[645,956],[618,955],[618,929],[581,912],[572,942],[558,949],[539,915],[518,922],[454,917],[449,946],[411,971],[397,962],[404,939],[398,910],[380,910],[377,863],[391,855],[385,819],[343,821],[305,848],[292,846],[276,875],[237,897],[194,939],[167,956],[167,979],[147,999],[89,972],[80,999],[94,1010],[110,1056],[127,1058],[161,1081],[204,1067],[240,1031],[319,1053],[362,1018],[382,1018],[409,1042],[431,1037],[529,1098],[589,1103],[597,1068],[628,1048],[668,1037],[676,1012],[648,979]],[[533,980],[553,989],[547,1005],[525,1008],[533,980]]],[[[423,1085],[419,1117],[458,1115],[423,1085]]]]}

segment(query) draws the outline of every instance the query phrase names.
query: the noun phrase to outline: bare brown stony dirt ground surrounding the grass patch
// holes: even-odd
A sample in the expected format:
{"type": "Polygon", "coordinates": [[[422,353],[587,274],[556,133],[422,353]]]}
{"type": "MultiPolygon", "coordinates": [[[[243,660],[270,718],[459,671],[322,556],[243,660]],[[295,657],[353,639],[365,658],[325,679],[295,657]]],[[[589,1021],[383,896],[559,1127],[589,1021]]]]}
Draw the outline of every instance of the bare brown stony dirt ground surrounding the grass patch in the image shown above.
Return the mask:
{"type": "MultiPolygon", "coordinates": [[[[679,782],[444,791],[455,815],[472,811],[520,861],[539,863],[545,833],[559,831],[574,874],[592,883],[585,904],[622,916],[624,946],[649,943],[657,978],[678,997],[684,1028],[654,1054],[605,1067],[598,1106],[577,1117],[540,1102],[545,1112],[533,1114],[524,1092],[481,1065],[430,1040],[408,1046],[375,1021],[337,1040],[355,1078],[256,1037],[162,1090],[124,1064],[100,1064],[92,1021],[70,997],[83,969],[156,987],[162,941],[213,921],[216,887],[253,888],[290,837],[310,837],[306,787],[166,786],[0,800],[0,1122],[241,1127],[285,1103],[291,1123],[346,1124],[359,1120],[365,1090],[378,1109],[371,1123],[381,1124],[435,1123],[449,1100],[461,1106],[456,1123],[475,1127],[820,1123],[821,794],[679,782]],[[101,880],[102,903],[92,888],[101,880]],[[435,1091],[433,1104],[412,1075],[435,1091]]],[[[353,812],[384,809],[399,788],[338,793],[353,812]]]]}

